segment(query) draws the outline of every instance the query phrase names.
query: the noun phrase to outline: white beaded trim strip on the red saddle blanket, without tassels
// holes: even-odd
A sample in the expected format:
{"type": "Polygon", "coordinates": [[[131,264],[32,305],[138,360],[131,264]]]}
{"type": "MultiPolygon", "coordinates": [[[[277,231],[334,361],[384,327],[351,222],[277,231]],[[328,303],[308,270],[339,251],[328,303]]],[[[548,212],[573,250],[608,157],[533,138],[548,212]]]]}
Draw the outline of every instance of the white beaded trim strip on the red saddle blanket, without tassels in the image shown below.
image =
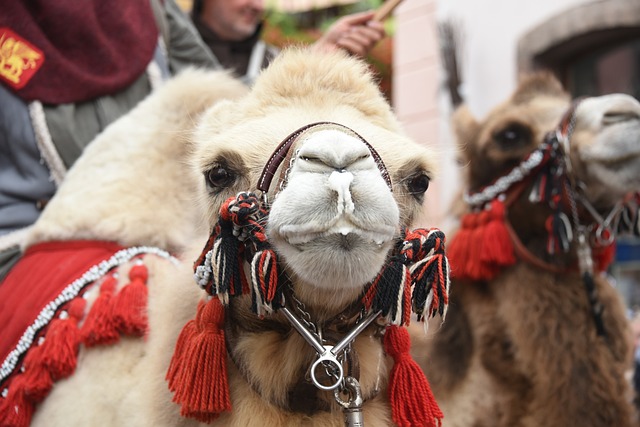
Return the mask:
{"type": "Polygon", "coordinates": [[[179,264],[177,258],[163,249],[152,246],[136,246],[122,249],[113,254],[108,260],[102,261],[100,264],[89,268],[81,277],[67,285],[53,301],[47,304],[42,311],[40,311],[36,320],[27,328],[24,334],[22,334],[16,348],[9,353],[2,363],[2,367],[0,368],[0,383],[7,379],[16,369],[20,357],[29,350],[36,334],[54,318],[56,311],[58,311],[62,305],[76,298],[82,289],[107,274],[109,270],[130,261],[140,254],[153,254],[169,260],[175,265],[179,264]]]}

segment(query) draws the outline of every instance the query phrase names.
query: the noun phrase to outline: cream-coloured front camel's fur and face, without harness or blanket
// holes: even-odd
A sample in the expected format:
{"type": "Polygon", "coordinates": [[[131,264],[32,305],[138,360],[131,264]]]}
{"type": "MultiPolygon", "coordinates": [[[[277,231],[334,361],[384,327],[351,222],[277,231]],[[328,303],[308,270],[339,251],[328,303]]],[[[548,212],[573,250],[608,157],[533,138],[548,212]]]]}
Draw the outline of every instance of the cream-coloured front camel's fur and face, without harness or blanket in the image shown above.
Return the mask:
{"type": "MultiPolygon", "coordinates": [[[[335,318],[358,298],[385,262],[400,227],[419,214],[435,173],[433,156],[404,135],[366,64],[340,52],[292,49],[245,92],[224,73],[176,77],[88,147],[35,224],[28,245],[115,240],[166,249],[178,262],[144,257],[149,270],[144,339],[81,346],[75,373],[56,382],[38,405],[33,426],[200,424],[181,416],[165,380],[180,330],[204,297],[194,283],[193,262],[221,203],[255,190],[271,152],[296,129],[320,121],[348,126],[379,153],[393,183],[391,192],[356,138],[323,128],[298,143],[301,154],[293,154],[286,187],[277,196],[272,185],[269,239],[315,322],[335,318]],[[339,255],[317,256],[333,250],[339,255]]],[[[120,267],[120,275],[130,266],[120,267]]],[[[91,302],[97,290],[89,293],[91,302]]],[[[227,316],[251,320],[239,324],[241,332],[233,337],[242,372],[227,361],[232,410],[212,425],[344,425],[332,392],[317,393],[325,410],[287,409],[292,387],[316,355],[281,314],[268,316],[278,328],[259,326],[252,332],[260,319],[250,310],[249,296],[242,296],[231,300],[227,316]]],[[[354,342],[364,419],[374,427],[393,424],[386,390],[392,362],[375,335],[379,330],[373,324],[354,342]]]]}

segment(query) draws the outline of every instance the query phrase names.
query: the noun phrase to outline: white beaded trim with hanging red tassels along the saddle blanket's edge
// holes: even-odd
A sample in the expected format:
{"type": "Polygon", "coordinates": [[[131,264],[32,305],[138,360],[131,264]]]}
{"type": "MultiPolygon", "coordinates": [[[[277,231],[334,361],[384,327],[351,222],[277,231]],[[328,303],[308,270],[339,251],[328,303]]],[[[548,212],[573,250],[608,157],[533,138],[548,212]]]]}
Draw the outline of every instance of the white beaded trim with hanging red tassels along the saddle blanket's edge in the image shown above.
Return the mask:
{"type": "Polygon", "coordinates": [[[178,263],[171,254],[156,247],[119,250],[65,286],[39,312],[0,367],[2,425],[29,425],[36,404],[49,394],[53,383],[75,370],[80,344],[112,344],[120,334],[144,334],[146,267],[141,261],[132,266],[129,283],[117,293],[117,279],[110,272],[146,254],[178,263]],[[85,316],[83,294],[93,284],[100,284],[100,294],[85,316]]]}

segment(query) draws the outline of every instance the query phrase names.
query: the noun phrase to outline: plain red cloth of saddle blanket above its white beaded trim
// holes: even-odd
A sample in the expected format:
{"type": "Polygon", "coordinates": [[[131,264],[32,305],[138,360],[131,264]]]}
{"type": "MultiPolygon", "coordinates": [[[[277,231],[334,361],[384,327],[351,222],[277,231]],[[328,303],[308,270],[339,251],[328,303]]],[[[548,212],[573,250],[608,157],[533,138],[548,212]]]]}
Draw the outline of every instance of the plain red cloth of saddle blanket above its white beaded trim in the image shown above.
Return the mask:
{"type": "Polygon", "coordinates": [[[27,249],[0,283],[0,362],[67,285],[121,249],[116,243],[90,240],[47,242],[27,249]]]}

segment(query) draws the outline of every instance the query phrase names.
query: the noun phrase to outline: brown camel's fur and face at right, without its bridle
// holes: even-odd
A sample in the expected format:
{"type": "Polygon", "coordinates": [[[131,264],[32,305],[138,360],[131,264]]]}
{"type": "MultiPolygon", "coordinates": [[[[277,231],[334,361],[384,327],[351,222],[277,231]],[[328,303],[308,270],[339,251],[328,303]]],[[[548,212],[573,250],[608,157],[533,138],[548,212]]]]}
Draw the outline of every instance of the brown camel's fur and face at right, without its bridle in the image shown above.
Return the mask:
{"type": "MultiPolygon", "coordinates": [[[[560,84],[542,73],[524,79],[482,121],[460,107],[452,123],[465,189],[478,191],[506,174],[558,126],[569,104],[560,84]]],[[[570,173],[606,214],[640,188],[640,106],[626,95],[589,98],[575,117],[570,173]]],[[[529,188],[509,209],[508,221],[531,253],[561,272],[518,259],[493,279],[460,279],[452,258],[447,322],[435,336],[414,340],[413,348],[445,414],[443,425],[633,425],[625,379],[632,349],[620,295],[596,274],[606,329],[598,336],[575,271],[575,242],[566,255],[546,254],[550,211],[529,201],[529,188]]],[[[580,215],[591,221],[584,209],[580,215]]]]}

